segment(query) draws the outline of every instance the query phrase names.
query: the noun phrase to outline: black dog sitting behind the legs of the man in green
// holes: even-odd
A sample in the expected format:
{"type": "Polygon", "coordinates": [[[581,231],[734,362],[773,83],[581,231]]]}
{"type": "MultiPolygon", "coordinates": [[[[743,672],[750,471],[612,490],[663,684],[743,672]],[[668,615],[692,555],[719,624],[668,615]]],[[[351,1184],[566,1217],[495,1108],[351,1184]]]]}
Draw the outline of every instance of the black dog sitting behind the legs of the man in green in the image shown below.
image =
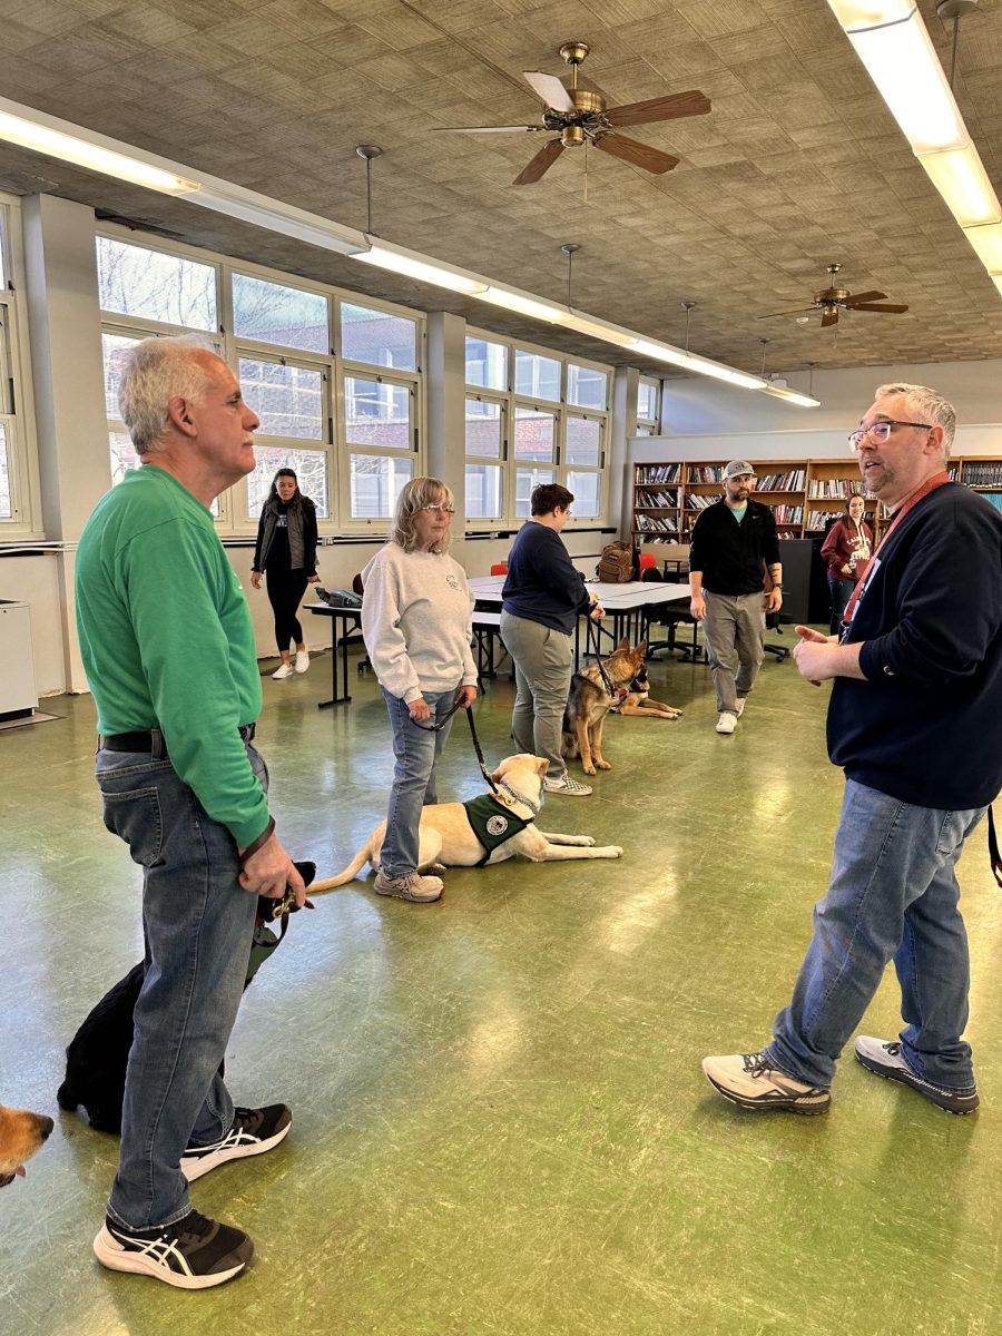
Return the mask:
{"type": "MultiPolygon", "coordinates": [[[[309,886],[317,875],[315,863],[297,863],[297,871],[309,886]]],[[[251,959],[244,989],[250,983],[265,955],[274,950],[281,938],[274,933],[262,934],[262,925],[273,921],[278,900],[258,898],[258,915],[251,959]]],[[[309,902],[307,902],[309,903],[309,902]]],[[[289,915],[285,915],[285,935],[289,915]]],[[[124,979],[104,994],[73,1035],[65,1050],[65,1079],[56,1093],[59,1108],[69,1113],[83,1105],[91,1126],[98,1132],[122,1132],[122,1101],[126,1093],[126,1066],[132,1047],[132,1013],[146,978],[146,966],[134,965],[124,979]]],[[[223,1063],[219,1063],[219,1075],[223,1063]]]]}

